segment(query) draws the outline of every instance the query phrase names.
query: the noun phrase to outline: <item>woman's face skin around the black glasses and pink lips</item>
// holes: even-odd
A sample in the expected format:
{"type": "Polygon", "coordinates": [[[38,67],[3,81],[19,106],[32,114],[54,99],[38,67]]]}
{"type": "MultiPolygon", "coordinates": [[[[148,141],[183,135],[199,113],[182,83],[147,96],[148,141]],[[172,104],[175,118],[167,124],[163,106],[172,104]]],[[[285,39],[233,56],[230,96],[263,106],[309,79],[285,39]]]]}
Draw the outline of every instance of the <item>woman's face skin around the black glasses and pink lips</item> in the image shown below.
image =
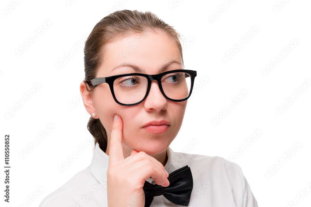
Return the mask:
{"type": "MultiPolygon", "coordinates": [[[[159,74],[160,68],[169,63],[162,72],[183,69],[177,44],[166,34],[132,35],[108,44],[106,49],[96,78],[124,73],[159,74]],[[174,63],[171,63],[173,61],[174,63]],[[115,68],[125,63],[138,66],[142,72],[137,72],[130,66],[115,68]]],[[[173,102],[165,99],[157,82],[152,81],[149,95],[142,103],[136,106],[121,106],[114,101],[109,85],[101,83],[95,87],[92,105],[94,109],[89,113],[96,113],[94,118],[100,119],[107,132],[107,154],[114,114],[117,113],[123,120],[124,154],[135,149],[149,155],[157,155],[167,149],[179,132],[187,101],[173,102]],[[165,132],[156,133],[143,127],[151,121],[167,121],[169,125],[164,127],[165,132]]]]}

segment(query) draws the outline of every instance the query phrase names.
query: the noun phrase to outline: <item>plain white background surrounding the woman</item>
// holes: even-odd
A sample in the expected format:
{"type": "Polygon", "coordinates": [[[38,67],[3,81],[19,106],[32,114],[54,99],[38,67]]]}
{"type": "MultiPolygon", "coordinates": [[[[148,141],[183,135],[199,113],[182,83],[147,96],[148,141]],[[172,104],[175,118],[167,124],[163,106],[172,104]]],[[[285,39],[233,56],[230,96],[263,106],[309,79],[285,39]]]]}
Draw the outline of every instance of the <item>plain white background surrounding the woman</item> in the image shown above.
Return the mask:
{"type": "Polygon", "coordinates": [[[185,69],[197,70],[198,90],[188,100],[173,151],[235,156],[231,159],[242,168],[259,206],[288,206],[295,199],[295,206],[310,206],[310,6],[308,0],[1,1],[0,160],[4,136],[10,134],[11,197],[9,204],[3,201],[0,170],[0,205],[38,206],[90,164],[90,115],[79,92],[84,40],[104,16],[129,9],[152,11],[174,26],[184,37],[185,69]],[[19,53],[22,47],[27,48],[19,53]],[[284,53],[286,48],[290,51],[284,53]],[[65,58],[71,50],[75,53],[65,58]],[[228,52],[233,55],[225,61],[228,52]],[[277,56],[281,59],[273,65],[277,56]],[[61,60],[65,63],[57,68],[61,60]],[[264,72],[267,64],[274,67],[264,72]],[[247,95],[241,99],[242,90],[247,95]],[[234,98],[239,100],[235,106],[234,98]],[[221,119],[214,124],[217,115],[221,119]],[[51,131],[49,124],[55,126],[51,131]],[[256,130],[262,133],[246,144],[256,130]],[[42,139],[40,133],[45,133],[42,139]],[[191,147],[193,140],[197,144],[191,147]],[[83,144],[86,149],[78,151],[83,144]],[[301,146],[294,149],[295,144],[301,146]],[[74,153],[78,157],[61,171],[74,153]],[[30,199],[36,192],[40,195],[30,199]]]}

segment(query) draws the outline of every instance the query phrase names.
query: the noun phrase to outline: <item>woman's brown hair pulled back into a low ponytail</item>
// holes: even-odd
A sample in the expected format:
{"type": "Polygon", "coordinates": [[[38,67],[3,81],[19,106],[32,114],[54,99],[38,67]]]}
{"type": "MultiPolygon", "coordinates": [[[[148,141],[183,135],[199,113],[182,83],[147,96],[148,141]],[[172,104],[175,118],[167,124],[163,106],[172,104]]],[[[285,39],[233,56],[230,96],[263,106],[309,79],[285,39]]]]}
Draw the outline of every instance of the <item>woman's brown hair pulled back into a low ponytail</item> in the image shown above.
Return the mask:
{"type": "MultiPolygon", "coordinates": [[[[177,44],[183,63],[182,46],[179,38],[182,36],[173,29],[172,26],[166,24],[150,11],[131,11],[122,10],[115,11],[100,20],[91,34],[87,38],[84,47],[84,72],[86,83],[86,91],[93,96],[94,86],[89,84],[91,79],[96,78],[99,66],[104,61],[103,57],[106,53],[105,46],[108,43],[117,41],[118,39],[131,36],[133,34],[146,34],[153,32],[156,34],[167,34],[173,38],[177,44]]],[[[98,142],[100,149],[106,152],[107,149],[107,133],[100,122],[100,119],[94,119],[92,116],[87,124],[87,129],[95,139],[95,145],[98,142]]]]}

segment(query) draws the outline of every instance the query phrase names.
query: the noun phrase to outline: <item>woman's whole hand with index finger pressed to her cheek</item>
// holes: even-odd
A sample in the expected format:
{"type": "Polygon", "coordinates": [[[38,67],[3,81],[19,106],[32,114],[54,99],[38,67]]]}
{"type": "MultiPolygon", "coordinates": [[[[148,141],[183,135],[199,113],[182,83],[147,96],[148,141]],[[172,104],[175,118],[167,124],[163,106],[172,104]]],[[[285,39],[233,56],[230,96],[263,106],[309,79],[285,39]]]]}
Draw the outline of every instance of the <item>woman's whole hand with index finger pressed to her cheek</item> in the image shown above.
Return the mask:
{"type": "Polygon", "coordinates": [[[122,147],[123,121],[115,115],[112,124],[109,164],[107,169],[107,196],[109,207],[144,207],[145,180],[153,178],[156,184],[169,186],[163,165],[145,152],[132,150],[131,155],[124,159],[122,147]]]}

